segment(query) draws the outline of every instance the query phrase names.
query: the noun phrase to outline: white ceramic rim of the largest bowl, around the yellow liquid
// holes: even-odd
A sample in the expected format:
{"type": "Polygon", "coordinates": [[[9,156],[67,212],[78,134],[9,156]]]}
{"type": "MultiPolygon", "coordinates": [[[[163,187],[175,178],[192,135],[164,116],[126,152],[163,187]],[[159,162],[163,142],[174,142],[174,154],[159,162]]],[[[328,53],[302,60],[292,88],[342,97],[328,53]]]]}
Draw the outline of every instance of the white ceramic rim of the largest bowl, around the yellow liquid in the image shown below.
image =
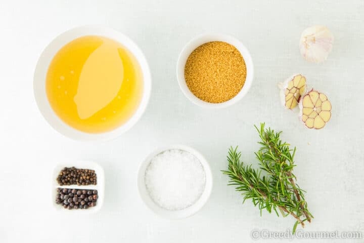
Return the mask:
{"type": "Polygon", "coordinates": [[[44,118],[48,123],[61,134],[73,138],[76,140],[108,140],[118,137],[122,133],[129,130],[143,115],[151,93],[152,79],[148,66],[148,62],[143,54],[143,52],[136,46],[135,43],[131,41],[127,36],[122,33],[103,26],[82,26],[74,29],[70,29],[59,36],[57,36],[41,53],[39,60],[37,62],[35,72],[34,72],[34,96],[38,108],[44,118]],[[126,47],[138,60],[142,73],[143,73],[143,98],[135,113],[132,117],[126,121],[125,124],[120,127],[105,133],[85,133],[76,130],[67,124],[65,124],[53,111],[51,105],[48,102],[47,94],[45,91],[45,77],[47,75],[49,64],[51,63],[55,54],[67,43],[71,42],[73,39],[85,36],[85,35],[99,35],[114,39],[114,41],[119,42],[121,45],[126,47]]]}

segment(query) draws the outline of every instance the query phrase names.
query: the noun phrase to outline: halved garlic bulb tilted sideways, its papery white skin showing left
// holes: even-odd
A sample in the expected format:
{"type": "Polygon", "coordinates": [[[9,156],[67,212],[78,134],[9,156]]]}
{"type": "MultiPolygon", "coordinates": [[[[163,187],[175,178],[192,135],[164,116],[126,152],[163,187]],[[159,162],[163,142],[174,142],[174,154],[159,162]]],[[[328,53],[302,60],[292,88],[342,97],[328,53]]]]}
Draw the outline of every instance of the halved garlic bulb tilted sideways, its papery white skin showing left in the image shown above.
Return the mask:
{"type": "Polygon", "coordinates": [[[306,91],[306,78],[302,74],[295,74],[279,86],[282,104],[287,109],[293,109],[306,91]]]}

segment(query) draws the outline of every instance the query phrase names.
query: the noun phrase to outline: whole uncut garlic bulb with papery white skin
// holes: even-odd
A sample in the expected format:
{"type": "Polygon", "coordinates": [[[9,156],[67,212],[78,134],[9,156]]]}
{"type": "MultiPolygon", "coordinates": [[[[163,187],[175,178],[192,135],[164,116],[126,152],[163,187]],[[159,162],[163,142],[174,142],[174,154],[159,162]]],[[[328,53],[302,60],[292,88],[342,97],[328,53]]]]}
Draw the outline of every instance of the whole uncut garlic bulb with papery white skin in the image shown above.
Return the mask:
{"type": "Polygon", "coordinates": [[[320,63],[327,59],[332,50],[334,36],[322,25],[305,29],[301,34],[301,55],[309,62],[320,63]]]}

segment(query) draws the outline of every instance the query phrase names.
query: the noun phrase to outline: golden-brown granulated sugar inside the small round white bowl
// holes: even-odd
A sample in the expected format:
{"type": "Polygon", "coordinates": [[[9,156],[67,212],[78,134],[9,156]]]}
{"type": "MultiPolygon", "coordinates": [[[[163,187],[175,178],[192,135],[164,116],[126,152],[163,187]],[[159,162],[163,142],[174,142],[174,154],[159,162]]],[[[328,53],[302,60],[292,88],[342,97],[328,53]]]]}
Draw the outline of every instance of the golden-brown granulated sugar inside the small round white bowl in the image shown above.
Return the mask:
{"type": "Polygon", "coordinates": [[[235,97],[246,78],[245,61],[233,45],[208,42],[196,48],[185,66],[186,84],[191,92],[209,103],[235,97]]]}

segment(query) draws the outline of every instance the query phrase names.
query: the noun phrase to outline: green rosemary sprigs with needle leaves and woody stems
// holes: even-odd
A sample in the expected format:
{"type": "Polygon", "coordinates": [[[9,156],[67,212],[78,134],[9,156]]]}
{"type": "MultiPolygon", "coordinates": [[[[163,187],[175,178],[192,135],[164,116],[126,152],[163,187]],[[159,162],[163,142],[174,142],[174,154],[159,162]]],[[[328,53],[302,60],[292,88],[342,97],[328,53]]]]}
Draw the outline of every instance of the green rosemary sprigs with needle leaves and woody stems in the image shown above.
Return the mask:
{"type": "Polygon", "coordinates": [[[311,222],[313,216],[307,209],[304,199],[304,190],[295,183],[293,174],[294,155],[296,148],[290,149],[289,144],[282,142],[282,132],[275,132],[270,128],[265,129],[265,124],[260,128],[254,126],[259,133],[261,148],[255,152],[259,169],[251,165],[244,165],[240,160],[241,152],[238,147],[231,147],[228,153],[228,170],[222,171],[230,177],[228,185],[236,186],[246,199],[251,199],[254,206],[258,206],[260,215],[265,209],[269,213],[278,211],[283,217],[288,215],[296,219],[293,233],[298,224],[304,227],[304,222],[311,222]]]}

